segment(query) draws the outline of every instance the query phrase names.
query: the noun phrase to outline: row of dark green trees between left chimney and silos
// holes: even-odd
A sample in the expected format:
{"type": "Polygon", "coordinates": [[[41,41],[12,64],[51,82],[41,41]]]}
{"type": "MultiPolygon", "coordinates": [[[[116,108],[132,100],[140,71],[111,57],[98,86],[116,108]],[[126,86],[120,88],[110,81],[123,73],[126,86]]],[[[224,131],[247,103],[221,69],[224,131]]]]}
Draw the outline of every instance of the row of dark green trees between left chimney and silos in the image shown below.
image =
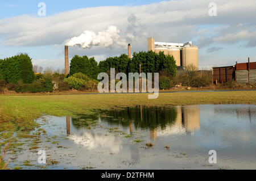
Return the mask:
{"type": "Polygon", "coordinates": [[[141,64],[141,72],[144,73],[158,73],[161,70],[167,71],[173,77],[176,76],[176,62],[174,57],[166,56],[163,52],[155,53],[149,52],[134,52],[133,58],[129,58],[127,54],[121,56],[109,57],[99,64],[94,58],[87,56],[74,56],[71,60],[70,74],[83,73],[90,78],[97,79],[98,73],[108,72],[110,68],[115,68],[117,72],[135,73],[139,72],[139,65],[141,64]]]}

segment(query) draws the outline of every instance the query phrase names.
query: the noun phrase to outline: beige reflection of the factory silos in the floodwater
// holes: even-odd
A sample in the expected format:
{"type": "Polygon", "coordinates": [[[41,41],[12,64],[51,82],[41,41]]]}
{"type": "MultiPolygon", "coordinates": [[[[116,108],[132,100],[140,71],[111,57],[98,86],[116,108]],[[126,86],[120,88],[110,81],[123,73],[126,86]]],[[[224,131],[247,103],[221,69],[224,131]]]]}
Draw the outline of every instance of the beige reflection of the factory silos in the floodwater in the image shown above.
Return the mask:
{"type": "Polygon", "coordinates": [[[177,106],[177,118],[174,124],[166,125],[166,128],[156,128],[150,130],[150,139],[156,140],[157,136],[167,136],[174,134],[193,133],[200,129],[199,106],[177,106]]]}

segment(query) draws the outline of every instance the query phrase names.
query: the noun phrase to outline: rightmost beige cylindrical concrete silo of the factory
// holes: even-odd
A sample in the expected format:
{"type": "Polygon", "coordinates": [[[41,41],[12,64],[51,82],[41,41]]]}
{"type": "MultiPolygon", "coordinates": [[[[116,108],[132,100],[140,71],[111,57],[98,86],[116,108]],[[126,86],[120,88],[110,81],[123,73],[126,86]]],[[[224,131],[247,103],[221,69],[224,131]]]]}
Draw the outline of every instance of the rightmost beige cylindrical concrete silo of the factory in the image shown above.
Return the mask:
{"type": "Polygon", "coordinates": [[[185,67],[190,64],[195,65],[197,69],[199,68],[198,47],[188,44],[181,48],[181,65],[185,67]]]}

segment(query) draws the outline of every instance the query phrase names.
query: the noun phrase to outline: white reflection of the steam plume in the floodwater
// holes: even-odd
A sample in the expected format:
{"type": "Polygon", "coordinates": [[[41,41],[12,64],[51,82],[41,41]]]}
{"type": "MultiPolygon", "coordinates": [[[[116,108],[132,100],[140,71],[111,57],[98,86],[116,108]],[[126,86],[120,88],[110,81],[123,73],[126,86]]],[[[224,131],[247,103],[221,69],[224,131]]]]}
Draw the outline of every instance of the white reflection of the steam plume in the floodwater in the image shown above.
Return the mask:
{"type": "Polygon", "coordinates": [[[81,135],[71,134],[69,139],[77,145],[82,145],[86,149],[108,148],[113,152],[119,152],[122,149],[121,141],[115,136],[105,136],[94,134],[93,132],[84,132],[81,135]]]}

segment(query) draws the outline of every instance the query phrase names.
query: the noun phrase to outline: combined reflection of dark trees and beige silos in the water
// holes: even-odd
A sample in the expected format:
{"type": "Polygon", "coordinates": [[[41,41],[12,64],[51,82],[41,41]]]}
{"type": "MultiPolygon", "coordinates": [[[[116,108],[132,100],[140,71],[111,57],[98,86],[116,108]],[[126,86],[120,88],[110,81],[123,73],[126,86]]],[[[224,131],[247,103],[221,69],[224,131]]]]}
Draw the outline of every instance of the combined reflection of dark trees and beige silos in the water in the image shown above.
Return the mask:
{"type": "Polygon", "coordinates": [[[155,140],[157,136],[193,133],[193,131],[200,129],[199,106],[127,107],[121,111],[104,112],[100,115],[100,119],[123,127],[128,126],[125,121],[128,120],[130,134],[133,133],[133,127],[135,129],[150,129],[152,140],[155,140]]]}

